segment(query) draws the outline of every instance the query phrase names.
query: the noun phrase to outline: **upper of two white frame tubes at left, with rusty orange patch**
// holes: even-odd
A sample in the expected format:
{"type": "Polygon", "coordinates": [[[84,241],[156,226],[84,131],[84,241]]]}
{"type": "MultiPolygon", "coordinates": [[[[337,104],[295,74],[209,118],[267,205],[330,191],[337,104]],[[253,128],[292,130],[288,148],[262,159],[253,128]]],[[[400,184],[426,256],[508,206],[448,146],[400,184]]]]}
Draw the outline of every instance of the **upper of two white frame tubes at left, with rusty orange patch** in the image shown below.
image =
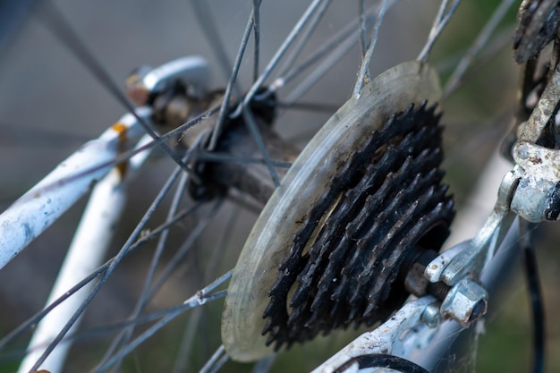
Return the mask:
{"type": "MultiPolygon", "coordinates": [[[[149,110],[143,108],[140,114],[148,116],[149,110]]],[[[0,230],[3,241],[0,242],[0,267],[4,267],[21,250],[49,225],[72,207],[85,195],[92,182],[104,177],[112,167],[99,168],[98,162],[112,159],[126,148],[132,146],[141,136],[138,122],[132,115],[124,115],[122,121],[104,131],[97,139],[91,140],[66,157],[47,176],[17,199],[1,215],[0,230]],[[72,175],[81,167],[97,168],[94,173],[85,174],[83,178],[72,175]],[[53,188],[55,186],[56,188],[53,188]]],[[[145,142],[144,140],[142,140],[145,142]]],[[[140,156],[139,156],[140,157],[140,156]]],[[[131,158],[133,159],[133,158],[131,158]]],[[[123,175],[123,164],[116,165],[123,175]]]]}

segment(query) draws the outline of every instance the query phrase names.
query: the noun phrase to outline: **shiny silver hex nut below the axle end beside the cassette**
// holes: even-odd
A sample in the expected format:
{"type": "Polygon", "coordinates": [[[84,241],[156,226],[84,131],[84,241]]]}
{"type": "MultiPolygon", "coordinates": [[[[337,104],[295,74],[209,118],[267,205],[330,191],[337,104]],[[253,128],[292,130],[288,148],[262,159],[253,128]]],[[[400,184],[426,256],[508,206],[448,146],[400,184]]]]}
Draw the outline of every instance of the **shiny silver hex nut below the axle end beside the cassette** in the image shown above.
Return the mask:
{"type": "Polygon", "coordinates": [[[462,326],[482,318],[488,308],[488,292],[474,281],[463,278],[445,296],[441,311],[462,326]]]}

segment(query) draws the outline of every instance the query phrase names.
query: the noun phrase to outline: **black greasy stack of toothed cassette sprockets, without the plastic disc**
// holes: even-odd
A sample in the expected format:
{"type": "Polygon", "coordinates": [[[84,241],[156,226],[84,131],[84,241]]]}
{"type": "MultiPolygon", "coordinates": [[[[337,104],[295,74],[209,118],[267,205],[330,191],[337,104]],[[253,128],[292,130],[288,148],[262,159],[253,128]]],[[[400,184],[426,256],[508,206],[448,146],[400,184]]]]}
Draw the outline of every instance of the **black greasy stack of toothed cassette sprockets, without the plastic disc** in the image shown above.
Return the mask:
{"type": "Polygon", "coordinates": [[[454,216],[438,168],[440,117],[426,102],[391,115],[333,177],[279,266],[264,313],[268,344],[370,326],[403,303],[404,258],[418,245],[439,250],[454,216]]]}

